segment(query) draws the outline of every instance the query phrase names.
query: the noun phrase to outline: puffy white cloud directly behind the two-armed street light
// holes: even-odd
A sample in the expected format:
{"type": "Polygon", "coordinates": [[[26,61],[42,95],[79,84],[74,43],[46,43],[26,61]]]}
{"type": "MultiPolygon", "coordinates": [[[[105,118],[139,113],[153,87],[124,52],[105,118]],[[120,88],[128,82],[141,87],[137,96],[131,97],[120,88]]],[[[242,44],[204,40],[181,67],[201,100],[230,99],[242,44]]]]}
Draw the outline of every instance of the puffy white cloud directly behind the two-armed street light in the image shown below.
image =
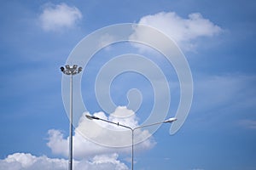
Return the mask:
{"type": "MultiPolygon", "coordinates": [[[[79,126],[76,127],[73,136],[73,155],[76,159],[102,154],[131,153],[131,130],[106,122],[91,121],[85,117],[86,114],[89,113],[84,113],[81,116],[79,126]]],[[[106,116],[103,112],[95,113],[94,116],[111,122],[119,122],[130,127],[138,126],[134,112],[128,110],[125,106],[117,107],[110,116],[106,116]],[[129,117],[126,117],[127,115],[129,117]]],[[[55,129],[50,129],[48,133],[49,142],[47,145],[52,152],[57,155],[67,156],[68,137],[64,138],[63,133],[55,129]]],[[[135,144],[140,139],[146,139],[135,145],[135,150],[148,150],[154,146],[154,139],[150,137],[151,134],[147,130],[137,129],[134,134],[135,144]]]]}

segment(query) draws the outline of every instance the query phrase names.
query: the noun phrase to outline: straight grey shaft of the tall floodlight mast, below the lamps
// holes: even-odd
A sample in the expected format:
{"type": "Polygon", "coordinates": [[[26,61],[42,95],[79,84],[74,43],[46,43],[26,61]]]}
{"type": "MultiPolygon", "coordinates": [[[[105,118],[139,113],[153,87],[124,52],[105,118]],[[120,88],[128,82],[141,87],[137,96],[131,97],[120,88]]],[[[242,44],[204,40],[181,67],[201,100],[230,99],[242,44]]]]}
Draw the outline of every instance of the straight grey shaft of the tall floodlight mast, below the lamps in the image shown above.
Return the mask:
{"type": "Polygon", "coordinates": [[[73,74],[70,75],[70,115],[69,115],[69,157],[68,170],[73,169],[73,74]]]}

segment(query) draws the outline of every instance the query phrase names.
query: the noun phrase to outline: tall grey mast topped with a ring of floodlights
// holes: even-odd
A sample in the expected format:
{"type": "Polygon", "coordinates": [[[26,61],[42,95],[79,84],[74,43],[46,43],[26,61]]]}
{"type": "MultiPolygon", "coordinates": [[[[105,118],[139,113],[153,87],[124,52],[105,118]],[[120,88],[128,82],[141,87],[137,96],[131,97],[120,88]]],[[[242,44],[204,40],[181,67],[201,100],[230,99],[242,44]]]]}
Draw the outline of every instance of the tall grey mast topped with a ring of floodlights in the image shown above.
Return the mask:
{"type": "Polygon", "coordinates": [[[68,170],[73,169],[73,75],[79,74],[82,71],[82,67],[78,68],[78,65],[65,65],[61,66],[61,72],[70,76],[70,106],[69,106],[69,154],[68,154],[68,170]]]}

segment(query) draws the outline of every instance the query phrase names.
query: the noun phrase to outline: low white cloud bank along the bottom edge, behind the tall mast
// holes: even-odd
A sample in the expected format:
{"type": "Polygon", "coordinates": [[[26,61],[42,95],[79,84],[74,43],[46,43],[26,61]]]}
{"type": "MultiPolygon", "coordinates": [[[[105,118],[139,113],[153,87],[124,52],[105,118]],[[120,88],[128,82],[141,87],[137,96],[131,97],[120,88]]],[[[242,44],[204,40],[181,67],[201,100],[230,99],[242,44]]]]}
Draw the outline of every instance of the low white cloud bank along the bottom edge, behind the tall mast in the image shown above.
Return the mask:
{"type": "MultiPolygon", "coordinates": [[[[91,160],[73,161],[73,168],[77,170],[126,170],[125,163],[118,160],[117,154],[95,156],[91,160]]],[[[28,153],[15,153],[0,160],[0,169],[4,170],[66,170],[67,160],[49,158],[47,156],[32,156],[28,153]]]]}

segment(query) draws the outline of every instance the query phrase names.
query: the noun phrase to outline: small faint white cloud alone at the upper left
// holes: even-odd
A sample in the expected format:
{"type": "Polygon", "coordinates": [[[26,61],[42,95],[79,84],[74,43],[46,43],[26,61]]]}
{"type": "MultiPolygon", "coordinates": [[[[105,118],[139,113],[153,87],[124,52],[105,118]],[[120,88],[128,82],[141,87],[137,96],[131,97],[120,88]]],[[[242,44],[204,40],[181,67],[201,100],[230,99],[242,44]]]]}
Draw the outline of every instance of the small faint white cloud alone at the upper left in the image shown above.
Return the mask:
{"type": "Polygon", "coordinates": [[[76,26],[82,19],[79,8],[69,7],[66,3],[54,5],[47,3],[39,16],[39,21],[44,31],[60,31],[62,28],[76,26]]]}

